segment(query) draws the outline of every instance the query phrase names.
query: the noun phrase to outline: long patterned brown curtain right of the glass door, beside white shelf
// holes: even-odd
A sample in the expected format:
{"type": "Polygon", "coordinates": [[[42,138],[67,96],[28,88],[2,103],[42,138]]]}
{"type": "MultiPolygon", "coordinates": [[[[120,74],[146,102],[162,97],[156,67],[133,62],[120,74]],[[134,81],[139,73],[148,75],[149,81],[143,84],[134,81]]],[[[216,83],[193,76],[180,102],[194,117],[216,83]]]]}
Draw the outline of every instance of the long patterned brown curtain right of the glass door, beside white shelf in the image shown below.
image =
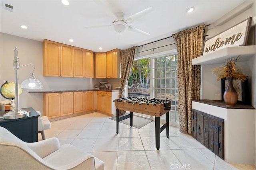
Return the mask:
{"type": "Polygon", "coordinates": [[[192,100],[200,99],[200,66],[192,59],[202,54],[204,24],[172,34],[178,51],[180,132],[192,133],[192,100]]]}

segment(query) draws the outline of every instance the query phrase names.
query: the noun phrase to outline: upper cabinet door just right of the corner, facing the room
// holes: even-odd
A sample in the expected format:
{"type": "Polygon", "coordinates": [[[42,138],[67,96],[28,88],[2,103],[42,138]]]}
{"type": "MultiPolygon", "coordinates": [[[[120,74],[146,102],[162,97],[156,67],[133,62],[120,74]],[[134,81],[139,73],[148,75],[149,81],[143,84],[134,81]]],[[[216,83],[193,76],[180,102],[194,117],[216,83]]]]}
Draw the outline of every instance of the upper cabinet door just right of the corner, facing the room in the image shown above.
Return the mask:
{"type": "Polygon", "coordinates": [[[94,53],[95,55],[95,78],[106,78],[106,53],[94,53]]]}

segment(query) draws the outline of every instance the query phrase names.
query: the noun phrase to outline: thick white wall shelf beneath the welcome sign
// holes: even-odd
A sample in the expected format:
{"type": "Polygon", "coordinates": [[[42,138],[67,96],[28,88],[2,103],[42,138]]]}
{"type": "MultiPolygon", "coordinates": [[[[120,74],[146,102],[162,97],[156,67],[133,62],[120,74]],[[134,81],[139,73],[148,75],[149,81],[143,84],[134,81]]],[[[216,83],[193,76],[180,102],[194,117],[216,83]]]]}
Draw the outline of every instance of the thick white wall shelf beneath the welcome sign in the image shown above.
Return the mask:
{"type": "Polygon", "coordinates": [[[239,61],[248,61],[256,53],[256,45],[238,47],[226,47],[212,53],[192,59],[192,65],[223,64],[227,59],[236,58],[240,55],[239,61]]]}

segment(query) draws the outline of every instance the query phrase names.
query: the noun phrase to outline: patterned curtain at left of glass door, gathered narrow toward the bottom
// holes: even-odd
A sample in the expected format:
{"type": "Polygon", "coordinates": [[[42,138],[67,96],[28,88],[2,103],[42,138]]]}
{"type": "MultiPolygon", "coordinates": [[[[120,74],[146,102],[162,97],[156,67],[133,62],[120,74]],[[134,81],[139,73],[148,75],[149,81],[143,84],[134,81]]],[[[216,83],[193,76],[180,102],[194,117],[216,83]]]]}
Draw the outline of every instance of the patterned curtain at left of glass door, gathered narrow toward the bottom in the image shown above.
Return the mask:
{"type": "Polygon", "coordinates": [[[132,65],[134,63],[134,56],[136,51],[137,51],[137,46],[121,51],[121,90],[122,91],[120,93],[120,98],[124,98],[124,88],[128,82],[128,78],[132,70],[132,65]]]}

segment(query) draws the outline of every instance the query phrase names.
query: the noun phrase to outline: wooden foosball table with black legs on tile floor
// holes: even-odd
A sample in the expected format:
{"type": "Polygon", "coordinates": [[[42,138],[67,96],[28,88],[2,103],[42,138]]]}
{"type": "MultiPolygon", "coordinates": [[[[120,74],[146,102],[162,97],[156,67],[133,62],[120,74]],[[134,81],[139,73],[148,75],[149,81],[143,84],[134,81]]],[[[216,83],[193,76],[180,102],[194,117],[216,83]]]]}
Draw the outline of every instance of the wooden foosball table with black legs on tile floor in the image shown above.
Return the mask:
{"type": "Polygon", "coordinates": [[[151,115],[155,117],[156,149],[160,148],[160,133],[166,129],[166,136],[169,138],[169,110],[171,109],[171,100],[151,99],[146,97],[128,97],[116,99],[116,133],[118,133],[118,124],[124,119],[130,118],[132,126],[133,112],[151,115]],[[130,111],[130,114],[119,117],[119,111],[130,111]],[[166,123],[160,127],[160,116],[166,114],[166,123]]]}

